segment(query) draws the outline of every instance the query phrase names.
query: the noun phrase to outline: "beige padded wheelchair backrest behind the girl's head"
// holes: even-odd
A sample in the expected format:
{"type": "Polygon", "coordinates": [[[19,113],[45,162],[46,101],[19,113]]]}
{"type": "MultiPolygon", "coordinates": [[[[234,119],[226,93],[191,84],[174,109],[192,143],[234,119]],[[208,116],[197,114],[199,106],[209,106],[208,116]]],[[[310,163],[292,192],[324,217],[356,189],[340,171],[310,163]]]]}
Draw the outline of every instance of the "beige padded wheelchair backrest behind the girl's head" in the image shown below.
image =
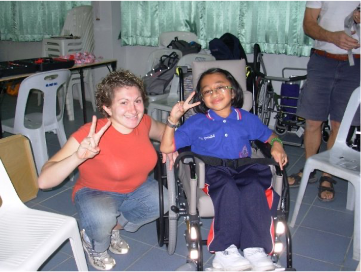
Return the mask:
{"type": "Polygon", "coordinates": [[[247,90],[246,84],[246,61],[245,59],[229,60],[229,61],[213,61],[213,62],[194,62],[192,63],[193,86],[196,88],[199,77],[203,72],[210,68],[221,68],[227,70],[237,80],[243,89],[244,104],[243,109],[252,108],[252,94],[247,90]]]}

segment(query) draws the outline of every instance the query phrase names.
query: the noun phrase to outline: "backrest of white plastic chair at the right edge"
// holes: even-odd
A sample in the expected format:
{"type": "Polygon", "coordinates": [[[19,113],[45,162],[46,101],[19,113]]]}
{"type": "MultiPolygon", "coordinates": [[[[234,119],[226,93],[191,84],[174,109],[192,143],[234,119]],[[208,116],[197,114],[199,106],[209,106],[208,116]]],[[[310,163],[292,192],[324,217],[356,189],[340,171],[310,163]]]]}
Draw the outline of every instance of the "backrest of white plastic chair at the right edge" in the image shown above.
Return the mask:
{"type": "Polygon", "coordinates": [[[346,139],[357,108],[360,106],[360,87],[357,87],[348,101],[334,146],[347,146],[346,139]]]}

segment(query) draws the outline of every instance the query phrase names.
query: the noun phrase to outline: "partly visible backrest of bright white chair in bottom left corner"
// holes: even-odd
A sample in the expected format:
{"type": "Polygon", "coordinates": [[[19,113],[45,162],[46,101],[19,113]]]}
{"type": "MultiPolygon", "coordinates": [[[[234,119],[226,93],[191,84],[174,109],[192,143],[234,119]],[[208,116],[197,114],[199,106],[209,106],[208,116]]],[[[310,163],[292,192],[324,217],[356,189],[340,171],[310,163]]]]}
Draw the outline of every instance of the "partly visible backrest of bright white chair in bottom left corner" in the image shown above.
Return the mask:
{"type": "Polygon", "coordinates": [[[8,172],[6,171],[3,162],[0,159],[0,197],[3,201],[0,206],[0,218],[9,208],[21,207],[24,204],[17,195],[13,184],[11,183],[8,172]]]}

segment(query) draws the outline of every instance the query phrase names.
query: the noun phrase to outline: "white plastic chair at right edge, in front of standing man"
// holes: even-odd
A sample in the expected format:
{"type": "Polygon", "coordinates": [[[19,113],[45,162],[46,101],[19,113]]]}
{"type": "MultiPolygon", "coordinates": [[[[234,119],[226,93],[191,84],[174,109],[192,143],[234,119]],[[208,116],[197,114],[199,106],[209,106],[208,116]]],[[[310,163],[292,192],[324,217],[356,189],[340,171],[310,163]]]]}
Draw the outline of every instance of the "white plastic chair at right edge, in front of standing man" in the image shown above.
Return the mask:
{"type": "Polygon", "coordinates": [[[334,146],[330,150],[307,159],[290,224],[294,227],[308,179],[313,170],[318,169],[348,180],[346,208],[354,209],[353,258],[355,260],[360,259],[360,153],[347,146],[346,138],[359,105],[360,87],[356,88],[351,95],[334,146]]]}

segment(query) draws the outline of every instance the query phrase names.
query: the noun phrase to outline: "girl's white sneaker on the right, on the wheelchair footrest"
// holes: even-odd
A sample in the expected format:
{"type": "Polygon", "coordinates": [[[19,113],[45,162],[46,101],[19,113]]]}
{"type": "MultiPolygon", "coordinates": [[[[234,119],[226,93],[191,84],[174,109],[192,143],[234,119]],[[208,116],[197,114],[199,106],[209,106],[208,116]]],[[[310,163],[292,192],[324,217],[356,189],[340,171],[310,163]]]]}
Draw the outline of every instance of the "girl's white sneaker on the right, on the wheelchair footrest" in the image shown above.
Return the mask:
{"type": "Polygon", "coordinates": [[[263,248],[247,248],[243,250],[243,255],[252,264],[254,271],[274,270],[273,261],[267,258],[263,248]]]}

